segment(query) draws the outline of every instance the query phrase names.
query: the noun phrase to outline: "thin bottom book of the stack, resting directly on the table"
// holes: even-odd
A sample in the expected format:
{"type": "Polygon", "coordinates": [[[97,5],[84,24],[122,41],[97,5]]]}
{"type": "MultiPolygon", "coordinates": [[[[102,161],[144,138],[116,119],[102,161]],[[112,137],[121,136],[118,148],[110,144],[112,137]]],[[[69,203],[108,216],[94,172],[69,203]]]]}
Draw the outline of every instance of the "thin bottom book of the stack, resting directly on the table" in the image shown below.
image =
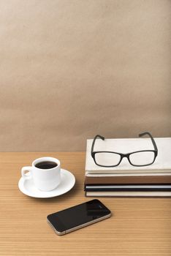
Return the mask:
{"type": "Polygon", "coordinates": [[[86,197],[171,197],[163,191],[86,191],[86,197]]]}

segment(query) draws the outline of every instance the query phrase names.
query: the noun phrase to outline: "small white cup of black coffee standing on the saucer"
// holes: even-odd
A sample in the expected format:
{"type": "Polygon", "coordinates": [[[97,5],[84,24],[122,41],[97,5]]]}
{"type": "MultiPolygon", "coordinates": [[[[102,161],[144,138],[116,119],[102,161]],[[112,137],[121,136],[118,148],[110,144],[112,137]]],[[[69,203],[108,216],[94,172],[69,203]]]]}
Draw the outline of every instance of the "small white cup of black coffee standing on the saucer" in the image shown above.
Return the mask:
{"type": "Polygon", "coordinates": [[[58,187],[61,182],[61,164],[56,158],[40,157],[32,162],[32,166],[23,167],[21,169],[21,175],[24,179],[33,178],[37,189],[50,191],[58,187]],[[56,166],[50,167],[49,169],[36,167],[37,164],[42,162],[53,162],[56,163],[56,166]]]}

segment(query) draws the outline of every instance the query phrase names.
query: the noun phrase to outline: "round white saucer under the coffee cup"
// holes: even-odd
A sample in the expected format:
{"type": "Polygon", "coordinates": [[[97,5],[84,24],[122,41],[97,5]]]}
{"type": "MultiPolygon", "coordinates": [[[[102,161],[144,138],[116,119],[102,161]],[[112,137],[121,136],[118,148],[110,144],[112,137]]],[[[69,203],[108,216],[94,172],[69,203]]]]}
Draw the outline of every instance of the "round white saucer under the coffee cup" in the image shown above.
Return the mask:
{"type": "Polygon", "coordinates": [[[18,182],[18,187],[23,194],[28,195],[29,197],[37,197],[37,198],[49,198],[49,197],[57,197],[58,195],[63,195],[68,192],[75,185],[75,176],[70,173],[68,170],[61,169],[61,183],[51,191],[41,191],[37,189],[34,185],[34,181],[32,178],[23,179],[20,178],[18,182]]]}

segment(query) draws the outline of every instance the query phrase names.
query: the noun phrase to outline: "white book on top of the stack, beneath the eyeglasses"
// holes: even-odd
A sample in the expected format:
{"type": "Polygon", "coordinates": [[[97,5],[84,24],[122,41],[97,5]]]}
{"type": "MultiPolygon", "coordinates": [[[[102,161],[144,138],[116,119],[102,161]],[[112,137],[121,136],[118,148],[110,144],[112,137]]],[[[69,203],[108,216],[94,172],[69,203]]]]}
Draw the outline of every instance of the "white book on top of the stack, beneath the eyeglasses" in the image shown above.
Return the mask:
{"type": "MultiPolygon", "coordinates": [[[[87,140],[86,148],[86,175],[134,175],[139,173],[145,175],[150,173],[160,173],[171,175],[171,138],[154,138],[158,148],[158,156],[152,165],[135,167],[129,164],[128,159],[123,158],[120,165],[116,167],[101,167],[95,164],[91,157],[91,145],[93,140],[87,140]]],[[[115,151],[119,153],[129,153],[140,150],[153,150],[150,138],[126,138],[126,139],[97,139],[94,151],[115,151]]]]}

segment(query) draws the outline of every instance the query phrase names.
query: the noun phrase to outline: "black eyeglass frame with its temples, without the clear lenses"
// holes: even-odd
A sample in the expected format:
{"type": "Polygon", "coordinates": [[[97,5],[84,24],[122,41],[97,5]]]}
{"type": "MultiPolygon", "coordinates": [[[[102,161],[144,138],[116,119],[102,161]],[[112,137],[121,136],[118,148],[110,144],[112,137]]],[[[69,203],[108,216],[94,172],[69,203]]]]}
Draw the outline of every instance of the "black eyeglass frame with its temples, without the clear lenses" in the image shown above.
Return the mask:
{"type": "Polygon", "coordinates": [[[102,139],[102,140],[105,139],[105,138],[104,138],[103,136],[101,136],[101,135],[96,135],[96,136],[94,137],[94,140],[93,140],[93,143],[92,143],[92,146],[91,146],[91,157],[94,159],[95,164],[98,165],[98,166],[101,166],[101,167],[115,167],[115,166],[118,166],[118,165],[120,165],[120,163],[121,163],[121,161],[122,161],[122,159],[123,159],[124,157],[126,157],[126,158],[128,159],[129,164],[132,165],[132,166],[143,167],[143,166],[152,165],[153,162],[156,160],[156,156],[157,156],[157,154],[158,154],[158,148],[157,148],[156,142],[155,142],[155,140],[153,139],[153,136],[151,135],[150,132],[142,132],[142,133],[139,134],[139,137],[142,137],[142,136],[144,136],[144,135],[148,135],[148,136],[151,138],[151,142],[153,143],[153,148],[154,148],[154,150],[147,149],[147,150],[133,151],[133,152],[126,153],[126,154],[119,153],[119,152],[114,152],[114,151],[94,151],[94,144],[95,144],[95,142],[96,142],[96,138],[100,138],[100,139],[102,139]],[[151,163],[148,164],[148,165],[133,165],[132,162],[131,162],[130,159],[129,159],[129,156],[130,156],[131,154],[139,153],[139,152],[153,152],[153,153],[154,153],[153,162],[151,162],[151,163]],[[118,162],[117,165],[110,165],[110,166],[99,165],[99,164],[96,163],[96,158],[95,158],[95,154],[96,154],[96,153],[114,153],[114,154],[119,154],[119,155],[121,156],[121,159],[120,159],[120,161],[118,162]]]}

